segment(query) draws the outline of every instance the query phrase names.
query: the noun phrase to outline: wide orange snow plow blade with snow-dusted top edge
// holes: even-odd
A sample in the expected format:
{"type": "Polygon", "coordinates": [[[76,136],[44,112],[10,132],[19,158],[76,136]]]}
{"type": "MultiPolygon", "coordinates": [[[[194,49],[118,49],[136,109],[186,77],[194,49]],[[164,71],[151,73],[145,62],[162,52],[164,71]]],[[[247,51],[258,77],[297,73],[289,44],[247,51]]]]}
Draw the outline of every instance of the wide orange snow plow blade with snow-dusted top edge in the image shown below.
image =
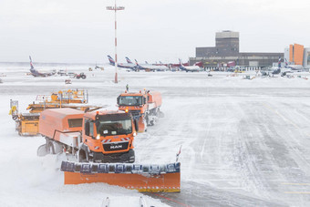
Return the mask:
{"type": "Polygon", "coordinates": [[[105,182],[138,191],[181,191],[180,162],[162,165],[62,161],[65,184],[105,182]]]}

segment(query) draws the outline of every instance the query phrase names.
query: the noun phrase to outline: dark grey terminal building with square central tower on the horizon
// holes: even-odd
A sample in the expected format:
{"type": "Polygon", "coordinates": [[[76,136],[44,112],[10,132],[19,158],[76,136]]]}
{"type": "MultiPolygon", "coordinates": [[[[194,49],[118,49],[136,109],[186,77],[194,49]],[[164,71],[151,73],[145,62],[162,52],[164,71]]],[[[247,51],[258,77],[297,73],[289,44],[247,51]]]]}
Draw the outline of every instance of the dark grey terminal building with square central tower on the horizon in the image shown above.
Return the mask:
{"type": "Polygon", "coordinates": [[[202,61],[203,67],[267,67],[277,63],[284,53],[241,53],[239,32],[222,31],[215,36],[215,47],[196,47],[196,57],[190,57],[190,64],[202,61]]]}

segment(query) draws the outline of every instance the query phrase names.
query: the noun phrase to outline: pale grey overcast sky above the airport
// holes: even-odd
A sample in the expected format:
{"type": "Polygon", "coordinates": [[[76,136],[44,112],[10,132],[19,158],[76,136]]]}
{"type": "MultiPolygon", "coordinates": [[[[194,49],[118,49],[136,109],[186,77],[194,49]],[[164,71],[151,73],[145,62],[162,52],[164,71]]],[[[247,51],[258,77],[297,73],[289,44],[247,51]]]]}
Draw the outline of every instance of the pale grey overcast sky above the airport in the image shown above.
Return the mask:
{"type": "MultiPolygon", "coordinates": [[[[308,0],[118,0],[118,57],[185,62],[240,32],[241,52],[310,46],[308,0]]],[[[92,63],[114,57],[114,0],[0,0],[0,62],[92,63]]]]}

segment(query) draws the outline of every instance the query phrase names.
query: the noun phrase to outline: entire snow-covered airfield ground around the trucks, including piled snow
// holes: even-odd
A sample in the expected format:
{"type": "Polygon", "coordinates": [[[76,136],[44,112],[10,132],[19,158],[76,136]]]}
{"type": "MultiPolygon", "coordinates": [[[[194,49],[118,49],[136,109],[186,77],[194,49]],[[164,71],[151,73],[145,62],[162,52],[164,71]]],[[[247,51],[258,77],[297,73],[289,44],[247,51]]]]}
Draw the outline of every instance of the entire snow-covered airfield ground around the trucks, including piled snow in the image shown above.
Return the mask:
{"type": "MultiPolygon", "coordinates": [[[[36,66],[35,66],[36,67],[36,66]]],[[[0,206],[308,206],[310,204],[310,80],[243,79],[230,73],[126,72],[114,67],[88,78],[34,78],[28,67],[0,67],[0,206]],[[136,162],[173,162],[181,150],[181,193],[143,195],[103,183],[63,185],[57,156],[36,156],[41,137],[19,137],[8,115],[9,100],[20,111],[64,88],[88,89],[90,104],[116,108],[126,84],[162,93],[165,117],[135,140],[136,162]],[[168,200],[169,199],[169,200],[168,200]]],[[[254,72],[248,75],[253,77],[254,72]]]]}

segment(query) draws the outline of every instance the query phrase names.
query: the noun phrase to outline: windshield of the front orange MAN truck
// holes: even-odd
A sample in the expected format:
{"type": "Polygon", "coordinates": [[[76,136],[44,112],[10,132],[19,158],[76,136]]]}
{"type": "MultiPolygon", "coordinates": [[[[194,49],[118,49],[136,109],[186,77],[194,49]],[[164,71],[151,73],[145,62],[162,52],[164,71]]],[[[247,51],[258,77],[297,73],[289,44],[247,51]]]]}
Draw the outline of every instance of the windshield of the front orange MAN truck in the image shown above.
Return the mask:
{"type": "Polygon", "coordinates": [[[130,134],[131,132],[131,119],[100,120],[97,128],[97,133],[100,136],[130,134]]]}

